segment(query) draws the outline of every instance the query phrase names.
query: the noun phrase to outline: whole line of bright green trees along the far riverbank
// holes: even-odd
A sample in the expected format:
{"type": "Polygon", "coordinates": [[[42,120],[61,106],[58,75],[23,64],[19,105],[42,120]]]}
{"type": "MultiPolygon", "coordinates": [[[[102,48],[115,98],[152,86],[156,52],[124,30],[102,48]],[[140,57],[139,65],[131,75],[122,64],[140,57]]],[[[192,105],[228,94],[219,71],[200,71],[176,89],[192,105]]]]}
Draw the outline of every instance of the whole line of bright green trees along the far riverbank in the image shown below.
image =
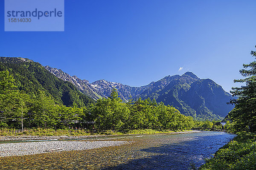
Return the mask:
{"type": "Polygon", "coordinates": [[[94,130],[184,130],[194,126],[172,106],[150,99],[122,102],[116,89],[111,96],[90,105],[67,107],[38,90],[35,94],[20,91],[9,71],[0,72],[0,127],[54,128],[89,127],[94,130]],[[92,126],[93,125],[93,126],[92,126]]]}

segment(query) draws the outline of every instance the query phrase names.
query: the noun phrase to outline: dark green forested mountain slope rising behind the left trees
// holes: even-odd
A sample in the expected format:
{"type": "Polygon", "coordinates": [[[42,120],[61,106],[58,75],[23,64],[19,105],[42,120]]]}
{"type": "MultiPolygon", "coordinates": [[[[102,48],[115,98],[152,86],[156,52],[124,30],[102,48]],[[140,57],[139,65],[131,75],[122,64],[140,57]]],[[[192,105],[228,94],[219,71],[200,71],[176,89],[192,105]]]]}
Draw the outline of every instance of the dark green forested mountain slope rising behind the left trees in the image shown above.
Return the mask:
{"type": "Polygon", "coordinates": [[[72,83],[63,81],[47,71],[38,62],[16,57],[0,57],[0,71],[8,70],[20,91],[34,95],[38,91],[52,96],[57,103],[79,107],[94,102],[82,94],[72,83]]]}

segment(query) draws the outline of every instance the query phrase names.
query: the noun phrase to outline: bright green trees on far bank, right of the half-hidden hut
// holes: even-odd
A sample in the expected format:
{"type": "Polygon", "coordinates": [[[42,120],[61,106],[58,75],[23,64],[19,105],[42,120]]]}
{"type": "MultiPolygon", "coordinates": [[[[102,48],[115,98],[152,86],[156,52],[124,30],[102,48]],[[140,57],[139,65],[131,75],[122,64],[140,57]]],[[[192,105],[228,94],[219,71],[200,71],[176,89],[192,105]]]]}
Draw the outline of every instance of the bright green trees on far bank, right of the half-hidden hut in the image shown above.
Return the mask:
{"type": "Polygon", "coordinates": [[[97,130],[183,130],[193,127],[193,118],[155,100],[137,99],[123,103],[115,90],[108,99],[98,99],[90,108],[97,130]]]}

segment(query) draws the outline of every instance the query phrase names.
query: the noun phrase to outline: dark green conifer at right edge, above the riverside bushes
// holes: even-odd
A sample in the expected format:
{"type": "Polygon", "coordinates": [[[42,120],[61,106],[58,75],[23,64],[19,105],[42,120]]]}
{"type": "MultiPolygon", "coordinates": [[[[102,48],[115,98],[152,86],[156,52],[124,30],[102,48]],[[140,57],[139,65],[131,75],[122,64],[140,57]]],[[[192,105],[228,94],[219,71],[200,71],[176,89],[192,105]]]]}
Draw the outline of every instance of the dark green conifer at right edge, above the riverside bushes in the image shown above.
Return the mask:
{"type": "MultiPolygon", "coordinates": [[[[256,51],[251,51],[251,55],[256,57],[256,51]]],[[[231,93],[238,99],[230,101],[235,108],[229,113],[229,117],[233,121],[234,131],[256,132],[256,61],[243,66],[245,69],[241,69],[240,74],[247,78],[235,79],[234,82],[244,82],[246,85],[232,88],[231,93]]]]}

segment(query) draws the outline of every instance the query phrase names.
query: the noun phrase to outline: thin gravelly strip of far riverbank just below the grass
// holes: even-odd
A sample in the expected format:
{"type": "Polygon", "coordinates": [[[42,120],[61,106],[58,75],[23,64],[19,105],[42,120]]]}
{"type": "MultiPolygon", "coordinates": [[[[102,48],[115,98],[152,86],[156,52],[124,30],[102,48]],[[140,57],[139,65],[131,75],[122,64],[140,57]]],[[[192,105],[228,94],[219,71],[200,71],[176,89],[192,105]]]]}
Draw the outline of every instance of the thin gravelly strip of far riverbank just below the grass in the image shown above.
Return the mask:
{"type": "Polygon", "coordinates": [[[156,134],[156,133],[170,133],[170,134],[179,134],[179,133],[198,133],[199,130],[184,130],[179,132],[174,131],[149,131],[149,130],[136,130],[133,131],[133,133],[119,133],[119,134],[110,134],[110,135],[86,135],[86,136],[26,136],[26,135],[20,135],[20,136],[0,136],[0,141],[22,141],[22,140],[62,140],[62,139],[87,139],[90,137],[102,137],[102,136],[119,136],[119,135],[145,135],[145,134],[156,134]],[[146,133],[148,132],[148,133],[146,133]]]}

